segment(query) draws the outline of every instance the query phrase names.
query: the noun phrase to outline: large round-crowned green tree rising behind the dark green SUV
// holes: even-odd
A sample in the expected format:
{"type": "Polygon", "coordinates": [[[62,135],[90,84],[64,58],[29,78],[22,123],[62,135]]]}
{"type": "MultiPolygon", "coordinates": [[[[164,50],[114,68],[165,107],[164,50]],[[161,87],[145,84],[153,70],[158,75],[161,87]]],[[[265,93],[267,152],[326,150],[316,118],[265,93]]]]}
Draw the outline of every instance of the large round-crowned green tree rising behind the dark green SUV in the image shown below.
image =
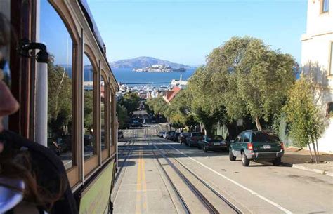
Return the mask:
{"type": "Polygon", "coordinates": [[[232,120],[249,114],[261,130],[261,120],[269,121],[284,104],[294,65],[291,55],[271,50],[260,39],[233,37],[207,57],[204,78],[211,86],[205,93],[215,101],[211,109],[224,109],[221,115],[232,120]]]}

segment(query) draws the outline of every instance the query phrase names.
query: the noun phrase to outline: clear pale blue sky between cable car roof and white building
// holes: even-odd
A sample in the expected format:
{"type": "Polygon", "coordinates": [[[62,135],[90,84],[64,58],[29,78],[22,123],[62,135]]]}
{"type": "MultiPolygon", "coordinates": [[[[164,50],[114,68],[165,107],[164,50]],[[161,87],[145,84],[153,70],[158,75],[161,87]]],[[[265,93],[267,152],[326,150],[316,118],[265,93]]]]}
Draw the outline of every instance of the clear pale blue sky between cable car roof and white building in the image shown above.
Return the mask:
{"type": "Polygon", "coordinates": [[[202,65],[232,36],[254,36],[301,60],[306,0],[87,0],[109,61],[152,56],[202,65]]]}

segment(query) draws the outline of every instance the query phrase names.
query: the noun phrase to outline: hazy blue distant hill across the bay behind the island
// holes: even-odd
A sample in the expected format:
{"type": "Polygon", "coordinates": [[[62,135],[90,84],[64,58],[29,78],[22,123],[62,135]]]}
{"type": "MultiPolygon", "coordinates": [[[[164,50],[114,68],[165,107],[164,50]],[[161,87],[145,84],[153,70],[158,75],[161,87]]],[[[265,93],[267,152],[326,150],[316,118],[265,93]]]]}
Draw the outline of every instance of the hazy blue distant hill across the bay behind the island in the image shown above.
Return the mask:
{"type": "Polygon", "coordinates": [[[110,65],[112,68],[144,68],[144,67],[150,67],[151,65],[166,65],[174,69],[178,69],[180,67],[184,67],[186,69],[191,68],[188,65],[169,62],[166,60],[159,60],[157,58],[151,58],[146,56],[128,59],[128,60],[118,60],[115,62],[111,62],[110,65]]]}

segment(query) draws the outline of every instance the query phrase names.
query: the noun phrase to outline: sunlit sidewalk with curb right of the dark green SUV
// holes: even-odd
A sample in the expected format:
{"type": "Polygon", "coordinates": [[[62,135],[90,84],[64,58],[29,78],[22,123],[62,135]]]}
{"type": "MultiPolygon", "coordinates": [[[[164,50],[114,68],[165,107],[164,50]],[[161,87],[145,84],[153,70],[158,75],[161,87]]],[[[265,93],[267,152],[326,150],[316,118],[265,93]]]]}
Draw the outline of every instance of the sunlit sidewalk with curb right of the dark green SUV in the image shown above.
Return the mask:
{"type": "Polygon", "coordinates": [[[319,158],[319,164],[311,163],[310,152],[307,150],[287,148],[285,149],[285,155],[282,156],[281,165],[333,177],[333,154],[319,152],[319,158]]]}

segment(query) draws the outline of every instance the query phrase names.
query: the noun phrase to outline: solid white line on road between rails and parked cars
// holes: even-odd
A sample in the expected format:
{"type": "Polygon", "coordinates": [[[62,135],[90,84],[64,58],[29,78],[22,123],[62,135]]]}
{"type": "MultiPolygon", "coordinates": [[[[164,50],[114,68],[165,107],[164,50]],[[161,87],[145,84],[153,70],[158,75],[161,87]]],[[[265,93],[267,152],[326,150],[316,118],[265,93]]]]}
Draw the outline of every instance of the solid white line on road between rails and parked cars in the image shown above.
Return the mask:
{"type": "Polygon", "coordinates": [[[192,157],[188,156],[187,154],[179,151],[178,149],[176,149],[175,147],[171,146],[171,145],[167,145],[168,147],[171,147],[173,149],[175,149],[177,152],[183,154],[184,156],[187,156],[189,159],[191,159],[192,161],[195,161],[196,163],[199,163],[201,166],[203,166],[204,168],[207,168],[208,170],[210,170],[211,172],[213,173],[216,173],[216,175],[220,175],[222,178],[232,182],[233,184],[237,185],[238,187],[241,187],[242,189],[245,189],[247,190],[248,192],[250,192],[251,194],[253,194],[254,196],[257,196],[259,199],[262,199],[263,201],[266,201],[267,203],[270,203],[271,205],[275,206],[276,208],[279,208],[280,210],[282,210],[283,212],[285,213],[292,213],[292,211],[290,210],[287,210],[286,208],[280,206],[280,204],[278,203],[275,203],[273,201],[270,201],[270,199],[267,199],[266,197],[264,196],[261,196],[261,194],[258,194],[257,192],[254,192],[252,189],[249,189],[247,187],[244,187],[243,185],[241,185],[239,182],[236,182],[235,180],[232,180],[230,178],[228,178],[226,175],[223,175],[221,173],[218,173],[216,170],[212,169],[212,168],[209,168],[208,166],[204,165],[203,163],[201,163],[200,161],[197,161],[195,159],[193,159],[192,157]]]}

